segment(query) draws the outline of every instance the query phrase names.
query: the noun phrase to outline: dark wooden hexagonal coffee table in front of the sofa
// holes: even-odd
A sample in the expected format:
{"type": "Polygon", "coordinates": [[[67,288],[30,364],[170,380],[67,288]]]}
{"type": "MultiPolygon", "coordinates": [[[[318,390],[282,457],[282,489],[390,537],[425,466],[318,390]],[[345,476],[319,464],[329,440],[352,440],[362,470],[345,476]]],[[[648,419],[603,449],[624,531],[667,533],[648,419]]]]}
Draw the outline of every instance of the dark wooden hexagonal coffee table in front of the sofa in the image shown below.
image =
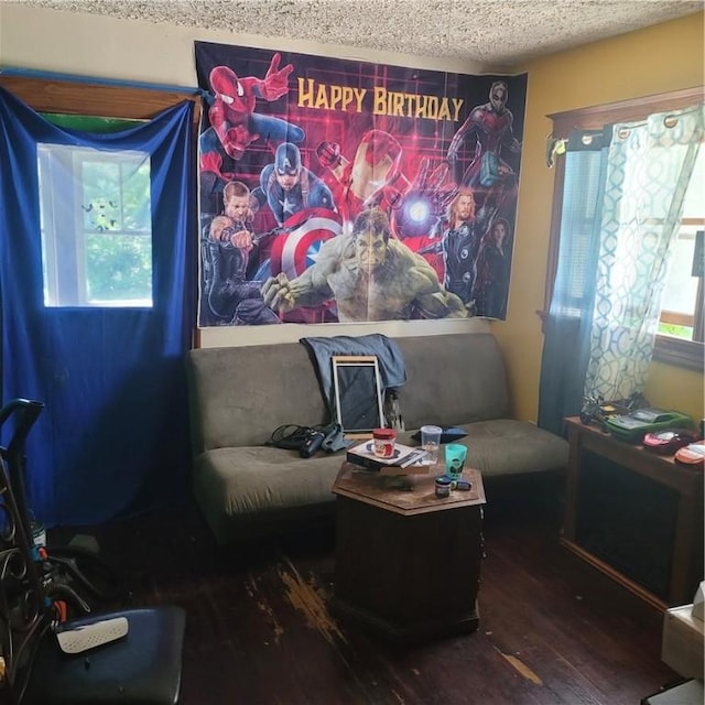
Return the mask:
{"type": "Polygon", "coordinates": [[[482,478],[465,470],[473,489],[440,499],[435,469],[402,479],[343,463],[334,615],[403,642],[477,629],[482,478]]]}

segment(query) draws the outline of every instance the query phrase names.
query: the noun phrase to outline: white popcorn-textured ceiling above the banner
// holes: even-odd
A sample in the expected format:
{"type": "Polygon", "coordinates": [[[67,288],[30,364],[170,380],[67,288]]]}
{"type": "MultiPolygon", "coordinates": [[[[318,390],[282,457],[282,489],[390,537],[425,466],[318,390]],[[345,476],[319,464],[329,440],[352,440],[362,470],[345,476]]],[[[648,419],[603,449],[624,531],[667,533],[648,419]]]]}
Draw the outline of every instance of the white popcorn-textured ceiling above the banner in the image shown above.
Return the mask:
{"type": "MultiPolygon", "coordinates": [[[[4,0],[12,3],[13,0],[4,0]]],[[[702,0],[24,0],[14,4],[512,66],[702,0]]]]}

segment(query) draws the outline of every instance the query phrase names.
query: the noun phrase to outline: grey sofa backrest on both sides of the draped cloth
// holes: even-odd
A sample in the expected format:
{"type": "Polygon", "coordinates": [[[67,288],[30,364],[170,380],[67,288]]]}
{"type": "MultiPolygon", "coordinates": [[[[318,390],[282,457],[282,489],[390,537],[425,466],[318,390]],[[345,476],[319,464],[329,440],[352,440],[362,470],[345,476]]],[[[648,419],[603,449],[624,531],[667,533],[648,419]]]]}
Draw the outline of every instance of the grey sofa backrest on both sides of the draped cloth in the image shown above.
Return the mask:
{"type": "MultiPolygon", "coordinates": [[[[488,333],[395,338],[408,429],[509,416],[501,351],[488,333]]],[[[330,421],[316,369],[301,343],[198,348],[186,357],[194,455],[262,445],[276,426],[330,421]]]]}

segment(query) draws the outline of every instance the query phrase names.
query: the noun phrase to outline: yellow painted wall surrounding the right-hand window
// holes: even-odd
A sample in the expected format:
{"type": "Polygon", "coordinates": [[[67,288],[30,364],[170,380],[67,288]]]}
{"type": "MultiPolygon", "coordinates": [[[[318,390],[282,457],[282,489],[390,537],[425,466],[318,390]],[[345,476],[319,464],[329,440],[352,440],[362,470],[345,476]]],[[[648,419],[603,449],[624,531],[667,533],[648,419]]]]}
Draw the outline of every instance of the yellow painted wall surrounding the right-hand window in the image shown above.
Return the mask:
{"type": "MultiPolygon", "coordinates": [[[[575,108],[703,85],[703,13],[561,52],[534,61],[521,161],[517,239],[509,314],[492,323],[509,366],[514,410],[535,419],[543,337],[535,314],[543,308],[553,200],[553,171],[545,165],[545,116],[575,108]]],[[[659,406],[696,419],[703,413],[703,373],[653,364],[646,395],[659,406]]]]}

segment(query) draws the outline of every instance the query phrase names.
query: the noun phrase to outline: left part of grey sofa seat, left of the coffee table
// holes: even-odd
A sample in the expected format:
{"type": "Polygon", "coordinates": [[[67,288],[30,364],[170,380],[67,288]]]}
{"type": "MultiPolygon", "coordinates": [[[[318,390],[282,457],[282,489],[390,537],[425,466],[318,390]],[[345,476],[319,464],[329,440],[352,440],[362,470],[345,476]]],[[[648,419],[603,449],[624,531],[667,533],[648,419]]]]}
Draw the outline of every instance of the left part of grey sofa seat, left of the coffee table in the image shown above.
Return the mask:
{"type": "Polygon", "coordinates": [[[344,453],[302,458],[267,446],[215,448],[198,456],[194,492],[218,539],[230,523],[292,514],[314,505],[333,506],[333,482],[344,453]]]}

